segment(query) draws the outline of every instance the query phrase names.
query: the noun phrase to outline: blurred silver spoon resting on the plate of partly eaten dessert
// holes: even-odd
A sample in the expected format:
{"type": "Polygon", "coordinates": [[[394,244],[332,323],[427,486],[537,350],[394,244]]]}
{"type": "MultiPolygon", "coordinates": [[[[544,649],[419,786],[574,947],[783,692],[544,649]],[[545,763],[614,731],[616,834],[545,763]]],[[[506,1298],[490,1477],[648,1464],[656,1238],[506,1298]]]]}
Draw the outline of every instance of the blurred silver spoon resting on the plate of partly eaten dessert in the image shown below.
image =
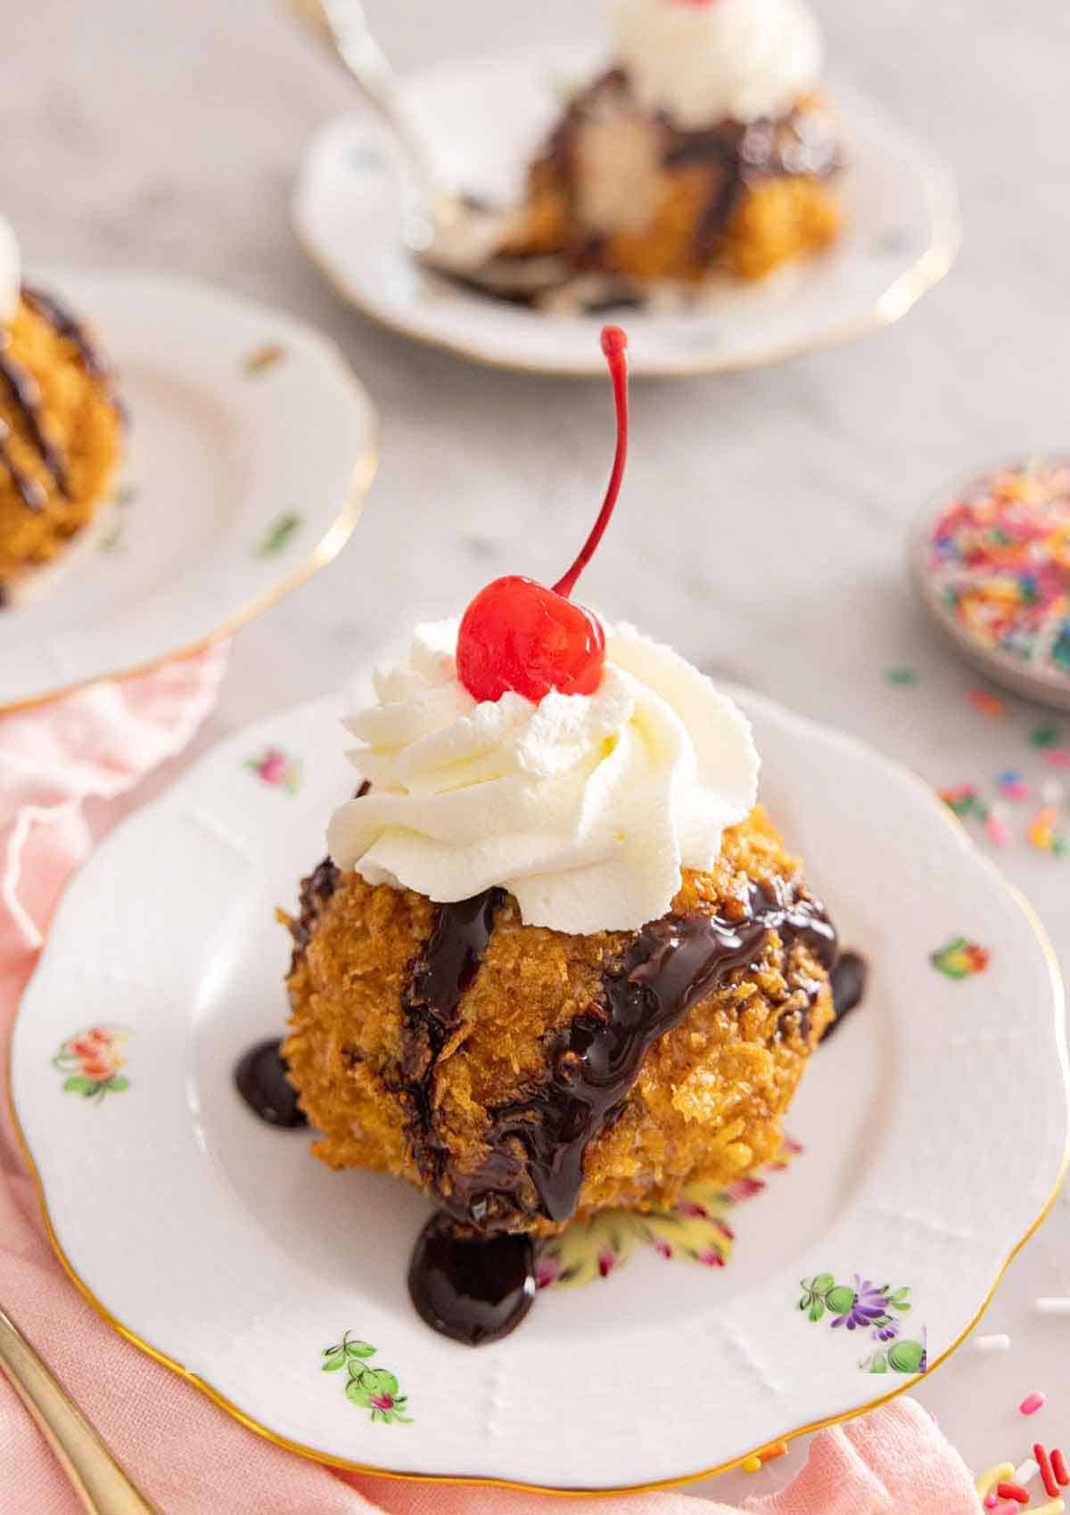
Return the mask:
{"type": "Polygon", "coordinates": [[[356,80],[402,153],[406,170],[402,238],[412,256],[436,273],[512,298],[530,298],[561,285],[567,267],[559,258],[500,258],[509,212],[471,201],[432,167],[400,80],[371,35],[361,0],[288,3],[356,80]]]}

